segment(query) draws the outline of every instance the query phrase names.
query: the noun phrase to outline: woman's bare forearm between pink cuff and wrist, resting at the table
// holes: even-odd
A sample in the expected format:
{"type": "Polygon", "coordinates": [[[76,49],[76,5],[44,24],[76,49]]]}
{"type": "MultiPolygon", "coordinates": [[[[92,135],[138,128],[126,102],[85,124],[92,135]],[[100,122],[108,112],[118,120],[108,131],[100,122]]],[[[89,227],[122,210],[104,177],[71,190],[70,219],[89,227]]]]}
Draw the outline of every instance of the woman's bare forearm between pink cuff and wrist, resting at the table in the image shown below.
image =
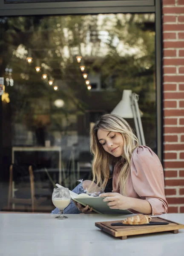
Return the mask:
{"type": "Polygon", "coordinates": [[[152,214],[152,207],[147,200],[138,198],[129,198],[129,209],[141,212],[144,214],[152,214]]]}

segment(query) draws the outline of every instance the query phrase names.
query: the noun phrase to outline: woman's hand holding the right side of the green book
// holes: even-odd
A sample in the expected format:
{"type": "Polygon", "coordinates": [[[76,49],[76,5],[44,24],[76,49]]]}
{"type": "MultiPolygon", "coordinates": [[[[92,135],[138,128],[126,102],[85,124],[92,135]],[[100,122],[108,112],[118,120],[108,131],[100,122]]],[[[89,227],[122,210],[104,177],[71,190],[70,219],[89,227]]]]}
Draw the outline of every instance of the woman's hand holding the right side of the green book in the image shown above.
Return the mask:
{"type": "Polygon", "coordinates": [[[103,193],[100,197],[105,197],[103,199],[104,202],[109,202],[107,205],[111,209],[121,209],[126,210],[130,209],[130,199],[124,195],[119,193],[103,193]]]}

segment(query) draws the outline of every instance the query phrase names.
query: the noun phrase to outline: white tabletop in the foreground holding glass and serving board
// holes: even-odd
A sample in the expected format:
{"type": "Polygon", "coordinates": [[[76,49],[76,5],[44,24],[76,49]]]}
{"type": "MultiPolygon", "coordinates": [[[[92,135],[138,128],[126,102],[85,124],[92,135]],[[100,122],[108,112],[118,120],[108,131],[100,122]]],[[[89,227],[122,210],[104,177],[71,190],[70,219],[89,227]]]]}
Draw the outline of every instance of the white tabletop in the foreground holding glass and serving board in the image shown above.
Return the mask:
{"type": "MultiPolygon", "coordinates": [[[[66,220],[51,214],[0,214],[0,256],[183,256],[184,230],[114,238],[97,221],[127,216],[76,214],[66,220]]],[[[184,224],[184,214],[163,214],[184,224]]]]}

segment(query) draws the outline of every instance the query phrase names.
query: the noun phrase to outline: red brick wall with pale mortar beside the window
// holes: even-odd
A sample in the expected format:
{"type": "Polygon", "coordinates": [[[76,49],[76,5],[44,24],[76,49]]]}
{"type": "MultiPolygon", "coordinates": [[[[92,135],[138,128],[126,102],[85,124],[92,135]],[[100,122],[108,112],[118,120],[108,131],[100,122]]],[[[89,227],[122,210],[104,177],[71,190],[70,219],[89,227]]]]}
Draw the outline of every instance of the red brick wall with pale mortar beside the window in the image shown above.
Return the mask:
{"type": "Polygon", "coordinates": [[[184,212],[184,0],[163,0],[164,175],[169,212],[184,212]]]}

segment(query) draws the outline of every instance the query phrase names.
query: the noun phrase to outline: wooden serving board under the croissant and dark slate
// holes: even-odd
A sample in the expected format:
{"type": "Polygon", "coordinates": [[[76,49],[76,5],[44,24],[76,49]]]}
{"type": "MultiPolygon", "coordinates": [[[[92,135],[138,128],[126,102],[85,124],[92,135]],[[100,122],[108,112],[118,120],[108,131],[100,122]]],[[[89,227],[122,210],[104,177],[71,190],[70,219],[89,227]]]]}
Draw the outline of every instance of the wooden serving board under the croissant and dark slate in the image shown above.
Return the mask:
{"type": "Polygon", "coordinates": [[[179,229],[184,229],[183,224],[176,223],[161,217],[152,217],[152,221],[156,222],[169,222],[167,225],[153,225],[153,226],[111,226],[112,223],[118,223],[121,221],[103,221],[95,222],[95,226],[99,227],[106,233],[109,233],[112,236],[118,237],[120,239],[127,239],[127,236],[156,233],[156,232],[165,232],[169,231],[171,233],[178,233],[179,229]]]}

